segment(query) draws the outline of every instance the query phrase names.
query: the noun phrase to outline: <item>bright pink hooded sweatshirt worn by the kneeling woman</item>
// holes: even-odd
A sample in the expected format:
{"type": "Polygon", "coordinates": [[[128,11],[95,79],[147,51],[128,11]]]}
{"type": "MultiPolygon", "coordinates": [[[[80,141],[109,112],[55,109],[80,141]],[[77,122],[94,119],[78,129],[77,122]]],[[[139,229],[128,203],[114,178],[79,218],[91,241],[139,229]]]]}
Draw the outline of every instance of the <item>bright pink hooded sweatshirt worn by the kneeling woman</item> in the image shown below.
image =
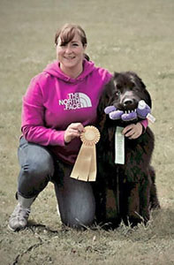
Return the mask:
{"type": "Polygon", "coordinates": [[[23,97],[22,133],[26,140],[49,148],[66,163],[74,163],[79,153],[79,138],[64,144],[68,125],[80,122],[95,125],[102,88],[112,74],[84,60],[84,71],[77,79],[61,72],[58,62],[31,80],[23,97]]]}

